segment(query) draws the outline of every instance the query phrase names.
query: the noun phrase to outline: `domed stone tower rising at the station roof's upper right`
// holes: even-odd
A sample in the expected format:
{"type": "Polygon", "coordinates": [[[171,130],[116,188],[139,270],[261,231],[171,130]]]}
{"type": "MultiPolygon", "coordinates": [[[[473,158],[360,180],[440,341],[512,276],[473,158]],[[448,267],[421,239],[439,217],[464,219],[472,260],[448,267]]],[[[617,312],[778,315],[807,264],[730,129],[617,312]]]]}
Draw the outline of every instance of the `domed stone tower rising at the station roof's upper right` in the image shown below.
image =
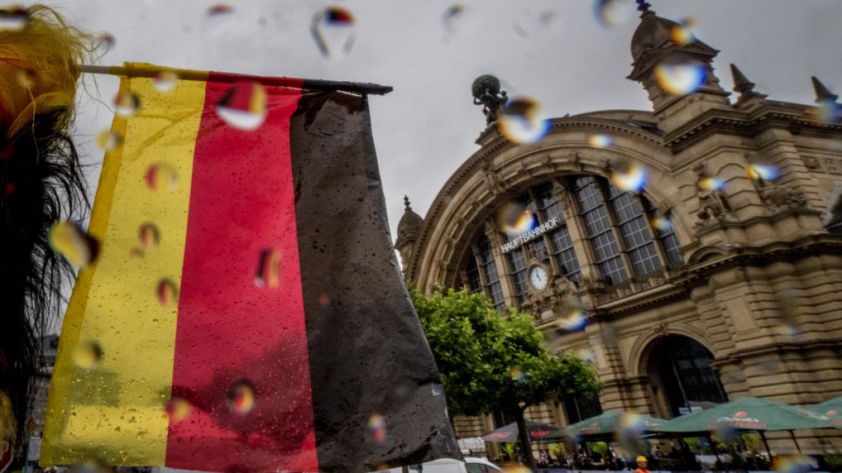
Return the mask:
{"type": "Polygon", "coordinates": [[[718,50],[685,25],[663,19],[638,0],[640,25],[632,35],[632,74],[649,94],[659,128],[674,130],[706,109],[729,107],[728,95],[713,74],[718,50]]]}

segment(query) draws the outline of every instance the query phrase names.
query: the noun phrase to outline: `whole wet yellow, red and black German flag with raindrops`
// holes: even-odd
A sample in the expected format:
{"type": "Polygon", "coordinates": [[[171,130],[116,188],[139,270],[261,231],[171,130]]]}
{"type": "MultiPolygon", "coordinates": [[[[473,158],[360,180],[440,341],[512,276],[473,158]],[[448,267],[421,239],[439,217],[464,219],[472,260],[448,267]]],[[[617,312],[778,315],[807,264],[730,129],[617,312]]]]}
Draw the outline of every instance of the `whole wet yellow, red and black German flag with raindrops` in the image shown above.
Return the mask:
{"type": "Polygon", "coordinates": [[[368,471],[458,456],[365,95],[213,72],[156,86],[120,83],[137,107],[115,116],[88,227],[99,257],[62,327],[41,465],[368,471]]]}

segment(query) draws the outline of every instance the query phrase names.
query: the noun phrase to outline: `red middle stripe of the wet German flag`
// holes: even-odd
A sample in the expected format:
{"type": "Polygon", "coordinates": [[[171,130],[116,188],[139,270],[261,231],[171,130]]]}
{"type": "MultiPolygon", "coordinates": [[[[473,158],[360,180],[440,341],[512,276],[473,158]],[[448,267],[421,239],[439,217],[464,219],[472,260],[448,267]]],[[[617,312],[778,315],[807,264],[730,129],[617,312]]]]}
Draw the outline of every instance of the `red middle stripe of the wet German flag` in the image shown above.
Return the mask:
{"type": "Polygon", "coordinates": [[[215,112],[231,85],[207,83],[196,138],[172,393],[192,414],[171,417],[166,464],[316,471],[290,167],[300,91],[267,87],[264,125],[243,131],[215,112]],[[259,287],[267,251],[280,263],[259,287]]]}

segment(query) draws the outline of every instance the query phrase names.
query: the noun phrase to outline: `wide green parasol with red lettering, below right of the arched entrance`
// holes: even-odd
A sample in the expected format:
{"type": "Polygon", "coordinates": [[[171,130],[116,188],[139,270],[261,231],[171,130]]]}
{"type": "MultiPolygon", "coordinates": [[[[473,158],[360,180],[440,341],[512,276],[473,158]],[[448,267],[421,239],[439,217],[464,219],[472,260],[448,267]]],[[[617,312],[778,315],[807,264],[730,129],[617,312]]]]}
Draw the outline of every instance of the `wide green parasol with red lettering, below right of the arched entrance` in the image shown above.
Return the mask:
{"type": "Polygon", "coordinates": [[[737,430],[798,430],[833,428],[827,416],[757,397],[719,404],[667,421],[661,432],[706,432],[719,428],[737,430]]]}

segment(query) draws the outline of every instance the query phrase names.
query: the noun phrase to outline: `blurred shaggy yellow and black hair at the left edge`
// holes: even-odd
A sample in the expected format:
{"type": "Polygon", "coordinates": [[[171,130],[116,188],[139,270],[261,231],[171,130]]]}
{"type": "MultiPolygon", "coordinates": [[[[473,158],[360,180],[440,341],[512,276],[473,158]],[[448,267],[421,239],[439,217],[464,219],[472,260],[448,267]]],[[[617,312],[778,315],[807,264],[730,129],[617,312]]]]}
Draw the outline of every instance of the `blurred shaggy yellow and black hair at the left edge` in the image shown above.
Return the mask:
{"type": "Polygon", "coordinates": [[[0,421],[19,442],[40,368],[40,337],[72,267],[51,251],[56,221],[88,208],[69,135],[78,64],[93,41],[42,5],[3,8],[0,30],[0,421]]]}

